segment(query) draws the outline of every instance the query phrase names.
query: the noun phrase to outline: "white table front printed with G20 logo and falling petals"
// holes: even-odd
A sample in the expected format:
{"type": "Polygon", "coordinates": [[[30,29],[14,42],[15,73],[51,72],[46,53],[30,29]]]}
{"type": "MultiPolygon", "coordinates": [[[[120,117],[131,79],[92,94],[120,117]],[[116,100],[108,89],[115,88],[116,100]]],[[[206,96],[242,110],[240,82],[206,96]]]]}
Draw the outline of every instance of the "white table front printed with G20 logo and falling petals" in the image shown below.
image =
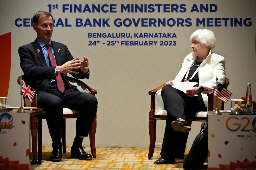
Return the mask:
{"type": "Polygon", "coordinates": [[[208,169],[256,169],[256,115],[208,115],[208,169]]]}

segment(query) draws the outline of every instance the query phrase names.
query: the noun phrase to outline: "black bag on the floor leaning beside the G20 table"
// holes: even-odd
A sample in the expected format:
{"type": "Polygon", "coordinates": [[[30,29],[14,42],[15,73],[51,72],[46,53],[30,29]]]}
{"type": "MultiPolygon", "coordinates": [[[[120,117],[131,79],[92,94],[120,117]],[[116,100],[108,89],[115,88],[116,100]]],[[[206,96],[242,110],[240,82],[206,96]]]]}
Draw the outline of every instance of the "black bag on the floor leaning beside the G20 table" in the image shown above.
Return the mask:
{"type": "Polygon", "coordinates": [[[196,136],[187,157],[183,161],[183,169],[199,169],[208,155],[208,127],[202,122],[200,133],[196,136]]]}

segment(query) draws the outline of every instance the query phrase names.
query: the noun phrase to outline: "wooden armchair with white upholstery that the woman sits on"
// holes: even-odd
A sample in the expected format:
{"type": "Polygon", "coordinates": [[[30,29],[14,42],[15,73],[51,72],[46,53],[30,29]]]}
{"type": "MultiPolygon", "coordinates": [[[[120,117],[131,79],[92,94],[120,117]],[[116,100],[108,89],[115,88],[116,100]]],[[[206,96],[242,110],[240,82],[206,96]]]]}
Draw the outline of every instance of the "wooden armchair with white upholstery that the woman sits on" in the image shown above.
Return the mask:
{"type": "MultiPolygon", "coordinates": [[[[226,78],[225,88],[229,85],[229,79],[226,78]]],[[[157,120],[166,120],[167,111],[164,108],[164,103],[161,96],[162,88],[165,84],[160,85],[154,90],[150,90],[148,92],[151,95],[150,102],[150,112],[149,112],[149,121],[148,121],[148,129],[149,129],[149,152],[148,159],[151,159],[155,149],[156,143],[156,128],[157,128],[157,120]]],[[[207,93],[208,96],[208,111],[213,111],[214,109],[214,90],[207,93]]],[[[218,102],[220,103],[220,102],[218,102]]],[[[216,106],[217,107],[217,106],[216,106]]],[[[221,102],[221,109],[224,109],[224,102],[221,102]]],[[[194,121],[206,121],[207,122],[207,111],[199,111],[195,114],[194,121]]]]}

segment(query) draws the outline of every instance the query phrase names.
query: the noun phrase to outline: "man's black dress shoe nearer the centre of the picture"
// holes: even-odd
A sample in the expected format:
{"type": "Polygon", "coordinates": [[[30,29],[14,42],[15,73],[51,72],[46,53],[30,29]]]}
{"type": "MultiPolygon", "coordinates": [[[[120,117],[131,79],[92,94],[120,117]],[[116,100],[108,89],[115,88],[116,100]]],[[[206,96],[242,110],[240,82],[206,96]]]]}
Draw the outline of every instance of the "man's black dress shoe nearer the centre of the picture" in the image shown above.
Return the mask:
{"type": "Polygon", "coordinates": [[[71,158],[77,158],[80,160],[92,159],[92,156],[83,150],[83,146],[73,145],[71,147],[70,153],[71,153],[71,158]]]}

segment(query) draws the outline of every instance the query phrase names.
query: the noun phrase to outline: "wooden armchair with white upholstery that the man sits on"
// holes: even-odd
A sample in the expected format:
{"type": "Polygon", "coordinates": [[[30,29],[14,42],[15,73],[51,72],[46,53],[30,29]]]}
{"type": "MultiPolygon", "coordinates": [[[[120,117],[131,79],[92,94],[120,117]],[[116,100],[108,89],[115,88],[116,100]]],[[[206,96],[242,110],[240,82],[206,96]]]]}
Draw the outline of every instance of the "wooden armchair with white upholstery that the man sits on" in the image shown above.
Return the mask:
{"type": "MultiPolygon", "coordinates": [[[[92,95],[97,94],[97,90],[89,87],[81,80],[75,79],[74,77],[69,77],[69,83],[77,86],[78,90],[84,93],[91,93],[92,95]]],[[[20,77],[18,77],[18,84],[20,84],[20,77]]],[[[35,92],[33,102],[30,102],[27,98],[23,97],[24,106],[25,107],[37,107],[37,91],[33,89],[35,92]]],[[[42,119],[46,119],[45,111],[43,110],[42,119]]],[[[63,131],[62,131],[62,148],[63,153],[66,153],[67,144],[66,144],[66,119],[69,118],[77,118],[79,111],[64,108],[63,109],[63,131]]],[[[37,132],[38,132],[38,117],[31,117],[30,119],[30,130],[31,130],[31,138],[32,138],[32,161],[36,161],[37,158],[37,132]]],[[[95,116],[94,121],[91,125],[91,129],[89,132],[90,138],[90,146],[91,146],[91,155],[96,158],[96,147],[95,147],[95,134],[97,127],[97,116],[95,116]]],[[[38,160],[40,161],[40,160],[38,160]]]]}

